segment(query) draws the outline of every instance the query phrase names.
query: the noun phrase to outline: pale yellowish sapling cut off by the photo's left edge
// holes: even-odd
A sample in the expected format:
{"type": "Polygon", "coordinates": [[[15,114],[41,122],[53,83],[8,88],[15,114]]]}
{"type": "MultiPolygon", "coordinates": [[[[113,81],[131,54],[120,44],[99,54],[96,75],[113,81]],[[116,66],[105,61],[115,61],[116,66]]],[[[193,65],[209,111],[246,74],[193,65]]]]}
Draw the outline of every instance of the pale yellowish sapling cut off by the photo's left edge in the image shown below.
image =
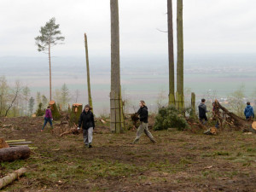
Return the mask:
{"type": "Polygon", "coordinates": [[[3,76],[0,77],[0,116],[3,115],[7,108],[7,102],[9,99],[9,85],[7,79],[3,76]]]}

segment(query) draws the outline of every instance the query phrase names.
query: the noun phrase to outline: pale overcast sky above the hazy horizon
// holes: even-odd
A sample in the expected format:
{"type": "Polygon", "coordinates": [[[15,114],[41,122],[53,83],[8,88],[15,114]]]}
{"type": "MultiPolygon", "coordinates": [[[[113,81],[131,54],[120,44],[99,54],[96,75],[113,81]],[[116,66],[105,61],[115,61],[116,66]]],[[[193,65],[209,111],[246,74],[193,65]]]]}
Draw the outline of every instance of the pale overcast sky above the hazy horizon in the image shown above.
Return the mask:
{"type": "MultiPolygon", "coordinates": [[[[256,53],[255,9],[255,0],[183,0],[184,53],[256,53]]],[[[90,55],[110,55],[109,0],[0,0],[0,56],[42,56],[34,38],[52,17],[66,38],[54,55],[84,56],[84,32],[90,55]]],[[[176,31],[176,0],[173,22],[176,31]]],[[[121,56],[166,55],[157,28],[167,29],[166,0],[119,0],[121,56]]]]}

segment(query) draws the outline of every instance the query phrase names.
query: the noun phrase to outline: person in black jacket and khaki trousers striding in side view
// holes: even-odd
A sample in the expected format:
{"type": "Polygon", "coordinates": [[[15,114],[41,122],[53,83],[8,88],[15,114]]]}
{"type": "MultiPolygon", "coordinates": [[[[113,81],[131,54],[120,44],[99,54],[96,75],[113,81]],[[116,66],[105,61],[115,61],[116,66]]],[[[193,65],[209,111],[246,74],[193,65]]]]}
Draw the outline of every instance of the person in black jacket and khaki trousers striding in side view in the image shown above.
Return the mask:
{"type": "Polygon", "coordinates": [[[137,137],[135,138],[133,143],[137,143],[142,136],[143,132],[149,137],[152,143],[155,143],[154,137],[148,130],[148,108],[144,101],[139,102],[139,110],[137,113],[139,114],[141,125],[137,129],[137,137]]]}

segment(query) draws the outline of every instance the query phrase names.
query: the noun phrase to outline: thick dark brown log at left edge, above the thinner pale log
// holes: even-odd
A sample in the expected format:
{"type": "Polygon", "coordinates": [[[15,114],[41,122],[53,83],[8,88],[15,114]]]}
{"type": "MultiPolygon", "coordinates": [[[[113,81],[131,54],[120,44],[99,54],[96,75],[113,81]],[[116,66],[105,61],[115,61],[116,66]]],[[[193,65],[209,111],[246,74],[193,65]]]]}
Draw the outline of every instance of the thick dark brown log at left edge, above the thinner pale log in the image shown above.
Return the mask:
{"type": "Polygon", "coordinates": [[[26,158],[29,158],[30,153],[31,153],[30,148],[26,146],[19,146],[19,147],[13,147],[13,148],[1,148],[0,162],[26,159],[26,158]]]}

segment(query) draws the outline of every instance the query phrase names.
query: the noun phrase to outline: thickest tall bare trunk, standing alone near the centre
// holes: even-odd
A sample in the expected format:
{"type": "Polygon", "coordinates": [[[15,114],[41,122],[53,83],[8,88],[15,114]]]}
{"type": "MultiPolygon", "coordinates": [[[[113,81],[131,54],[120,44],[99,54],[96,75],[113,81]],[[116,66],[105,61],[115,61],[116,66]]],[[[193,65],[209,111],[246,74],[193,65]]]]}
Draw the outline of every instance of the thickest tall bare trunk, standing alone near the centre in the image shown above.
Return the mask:
{"type": "Polygon", "coordinates": [[[110,114],[111,131],[121,132],[121,115],[119,105],[120,68],[119,68],[119,2],[110,0],[111,11],[111,92],[110,114]]]}

